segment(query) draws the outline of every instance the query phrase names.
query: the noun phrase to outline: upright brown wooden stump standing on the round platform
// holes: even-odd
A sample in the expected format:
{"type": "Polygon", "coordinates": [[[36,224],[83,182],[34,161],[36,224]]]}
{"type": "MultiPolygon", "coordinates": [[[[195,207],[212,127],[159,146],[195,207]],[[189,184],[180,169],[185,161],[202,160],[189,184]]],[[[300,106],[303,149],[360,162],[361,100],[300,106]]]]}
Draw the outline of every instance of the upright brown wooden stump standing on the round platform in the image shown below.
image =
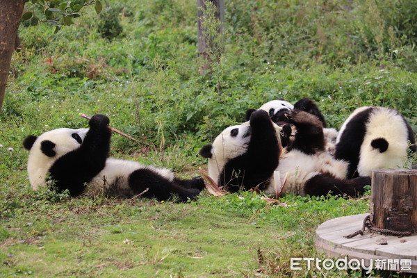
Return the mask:
{"type": "Polygon", "coordinates": [[[370,222],[380,229],[417,232],[417,170],[373,170],[370,222]]]}

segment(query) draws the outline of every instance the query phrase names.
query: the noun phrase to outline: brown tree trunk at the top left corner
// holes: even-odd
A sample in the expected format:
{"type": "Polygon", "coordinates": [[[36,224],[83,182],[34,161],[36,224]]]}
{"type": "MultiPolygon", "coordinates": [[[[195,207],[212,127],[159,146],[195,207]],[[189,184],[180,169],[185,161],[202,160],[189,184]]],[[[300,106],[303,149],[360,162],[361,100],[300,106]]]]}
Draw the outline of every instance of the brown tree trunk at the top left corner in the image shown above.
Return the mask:
{"type": "Polygon", "coordinates": [[[24,0],[0,0],[0,113],[24,0]]]}

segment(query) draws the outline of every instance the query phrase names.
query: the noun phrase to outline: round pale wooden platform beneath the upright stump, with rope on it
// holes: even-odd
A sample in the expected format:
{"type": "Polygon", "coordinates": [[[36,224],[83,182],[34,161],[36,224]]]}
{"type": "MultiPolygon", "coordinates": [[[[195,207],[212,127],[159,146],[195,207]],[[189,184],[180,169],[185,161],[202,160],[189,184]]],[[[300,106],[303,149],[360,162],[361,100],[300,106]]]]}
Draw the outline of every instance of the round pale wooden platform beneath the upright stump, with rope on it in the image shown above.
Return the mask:
{"type": "Polygon", "coordinates": [[[316,229],[316,247],[326,252],[328,256],[347,259],[364,259],[366,265],[373,260],[373,269],[394,270],[392,264],[401,265],[398,270],[401,272],[417,273],[417,235],[414,236],[382,236],[373,234],[366,230],[363,236],[357,235],[354,238],[345,238],[362,228],[363,219],[368,213],[350,215],[341,218],[328,220],[316,229]],[[377,240],[385,238],[387,245],[378,245],[377,240]],[[378,261],[376,261],[378,260],[378,261]],[[391,261],[389,261],[391,260],[391,261]],[[396,260],[396,261],[392,261],[396,260]],[[375,268],[375,263],[379,268],[375,268]],[[382,266],[382,268],[381,268],[382,266]]]}

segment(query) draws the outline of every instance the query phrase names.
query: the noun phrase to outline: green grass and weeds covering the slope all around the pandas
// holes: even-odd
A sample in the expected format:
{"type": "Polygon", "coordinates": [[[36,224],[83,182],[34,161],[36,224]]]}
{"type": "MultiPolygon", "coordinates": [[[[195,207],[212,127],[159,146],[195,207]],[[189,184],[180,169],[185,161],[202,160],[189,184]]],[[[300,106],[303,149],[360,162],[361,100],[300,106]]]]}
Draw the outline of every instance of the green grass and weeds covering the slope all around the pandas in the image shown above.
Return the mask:
{"type": "Polygon", "coordinates": [[[110,3],[117,13],[108,19],[122,26],[115,38],[102,38],[105,24],[88,8],[56,35],[45,25],[19,30],[0,114],[1,275],[359,276],[292,271],[289,262],[324,256],[313,243],[318,225],[365,213],[368,199],[69,199],[31,190],[22,140],[102,113],[140,140],[113,135],[111,156],[195,177],[206,167],[203,145],[279,97],[315,100],[336,128],[358,106],[392,107],[417,131],[416,0],[227,1],[224,52],[205,76],[195,1],[110,3]]]}

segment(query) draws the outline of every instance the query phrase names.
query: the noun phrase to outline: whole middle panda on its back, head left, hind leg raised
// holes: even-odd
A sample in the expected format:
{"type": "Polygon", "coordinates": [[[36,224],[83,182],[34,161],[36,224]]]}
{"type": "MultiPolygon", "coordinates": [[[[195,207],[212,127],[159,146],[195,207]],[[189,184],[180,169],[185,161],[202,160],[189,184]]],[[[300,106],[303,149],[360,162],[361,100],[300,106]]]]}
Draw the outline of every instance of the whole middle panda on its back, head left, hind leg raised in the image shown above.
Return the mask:
{"type": "Polygon", "coordinates": [[[254,111],[250,125],[231,126],[204,146],[199,154],[208,158],[208,176],[231,192],[254,189],[275,193],[278,179],[284,193],[296,195],[349,195],[363,193],[370,177],[344,179],[347,162],[325,150],[322,122],[304,111],[288,111],[287,122],[297,129],[295,140],[281,156],[268,113],[254,111]]]}

